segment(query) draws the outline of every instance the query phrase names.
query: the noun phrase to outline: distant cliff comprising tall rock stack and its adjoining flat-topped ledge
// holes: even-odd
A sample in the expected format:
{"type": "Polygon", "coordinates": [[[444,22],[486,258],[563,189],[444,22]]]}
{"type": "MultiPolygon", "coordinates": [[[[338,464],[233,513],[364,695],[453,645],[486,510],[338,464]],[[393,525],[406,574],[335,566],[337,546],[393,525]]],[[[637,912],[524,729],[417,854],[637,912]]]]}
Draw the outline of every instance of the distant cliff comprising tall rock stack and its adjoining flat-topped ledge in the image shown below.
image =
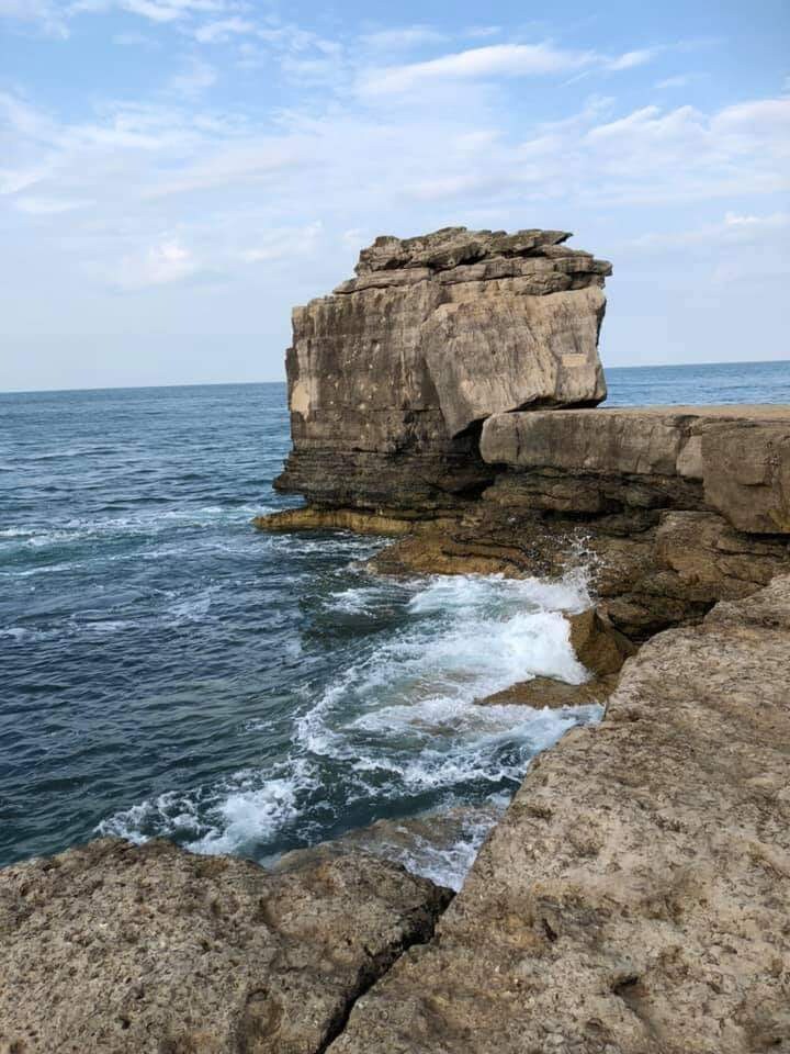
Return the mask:
{"type": "Polygon", "coordinates": [[[592,408],[611,266],[568,237],[377,238],[295,309],[275,485],[306,505],[256,526],[398,536],[375,561],[392,573],[584,561],[634,640],[786,570],[790,407],[592,408]]]}

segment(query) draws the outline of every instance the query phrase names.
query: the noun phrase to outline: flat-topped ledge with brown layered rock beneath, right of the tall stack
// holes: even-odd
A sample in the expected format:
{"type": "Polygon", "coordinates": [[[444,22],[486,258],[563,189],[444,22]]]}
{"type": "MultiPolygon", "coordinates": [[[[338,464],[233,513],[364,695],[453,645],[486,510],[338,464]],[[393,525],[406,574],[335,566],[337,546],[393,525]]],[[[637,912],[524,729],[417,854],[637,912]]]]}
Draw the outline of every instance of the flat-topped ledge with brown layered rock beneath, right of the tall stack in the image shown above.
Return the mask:
{"type": "Polygon", "coordinates": [[[790,407],[495,415],[481,498],[425,523],[380,570],[558,575],[590,569],[635,639],[695,621],[790,567],[790,407]]]}

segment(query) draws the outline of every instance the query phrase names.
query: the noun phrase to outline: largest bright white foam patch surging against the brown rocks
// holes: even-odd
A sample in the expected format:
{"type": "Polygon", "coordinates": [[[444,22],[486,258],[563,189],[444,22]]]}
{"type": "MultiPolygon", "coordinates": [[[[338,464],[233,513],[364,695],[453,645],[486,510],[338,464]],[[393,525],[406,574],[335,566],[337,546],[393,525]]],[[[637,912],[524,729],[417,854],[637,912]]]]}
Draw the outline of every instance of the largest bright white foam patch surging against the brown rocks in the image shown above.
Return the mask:
{"type": "Polygon", "coordinates": [[[476,739],[496,725],[511,730],[521,708],[472,704],[533,676],[585,681],[558,608],[587,603],[580,581],[432,580],[408,602],[417,625],[343,671],[303,715],[297,736],[313,753],[352,759],[354,732],[425,741],[476,739]]]}

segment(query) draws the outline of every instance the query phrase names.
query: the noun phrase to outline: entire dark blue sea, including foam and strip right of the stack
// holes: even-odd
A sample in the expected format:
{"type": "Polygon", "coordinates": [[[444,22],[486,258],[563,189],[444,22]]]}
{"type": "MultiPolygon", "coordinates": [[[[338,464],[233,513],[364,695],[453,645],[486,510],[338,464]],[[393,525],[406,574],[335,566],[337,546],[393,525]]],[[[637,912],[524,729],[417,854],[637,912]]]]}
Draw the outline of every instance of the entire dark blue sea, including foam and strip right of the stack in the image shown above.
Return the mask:
{"type": "MultiPolygon", "coordinates": [[[[609,406],[790,403],[790,362],[607,380],[609,406]]],[[[458,888],[535,754],[599,719],[474,702],[584,679],[582,561],[393,579],[386,539],[261,534],[298,504],[289,446],[284,384],[0,394],[0,865],[99,834],[272,865],[368,831],[458,888]]]]}

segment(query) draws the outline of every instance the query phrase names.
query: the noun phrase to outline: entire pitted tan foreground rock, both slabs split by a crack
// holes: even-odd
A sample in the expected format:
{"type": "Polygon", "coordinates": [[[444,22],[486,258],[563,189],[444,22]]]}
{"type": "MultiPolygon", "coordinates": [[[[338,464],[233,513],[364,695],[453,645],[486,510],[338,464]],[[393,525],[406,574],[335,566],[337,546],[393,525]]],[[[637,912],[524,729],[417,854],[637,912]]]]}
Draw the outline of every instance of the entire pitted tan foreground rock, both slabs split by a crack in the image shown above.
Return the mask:
{"type": "Polygon", "coordinates": [[[790,1051],[789,700],[785,575],[628,659],[443,915],[353,852],[270,875],[105,839],[0,871],[0,1051],[790,1051]]]}

